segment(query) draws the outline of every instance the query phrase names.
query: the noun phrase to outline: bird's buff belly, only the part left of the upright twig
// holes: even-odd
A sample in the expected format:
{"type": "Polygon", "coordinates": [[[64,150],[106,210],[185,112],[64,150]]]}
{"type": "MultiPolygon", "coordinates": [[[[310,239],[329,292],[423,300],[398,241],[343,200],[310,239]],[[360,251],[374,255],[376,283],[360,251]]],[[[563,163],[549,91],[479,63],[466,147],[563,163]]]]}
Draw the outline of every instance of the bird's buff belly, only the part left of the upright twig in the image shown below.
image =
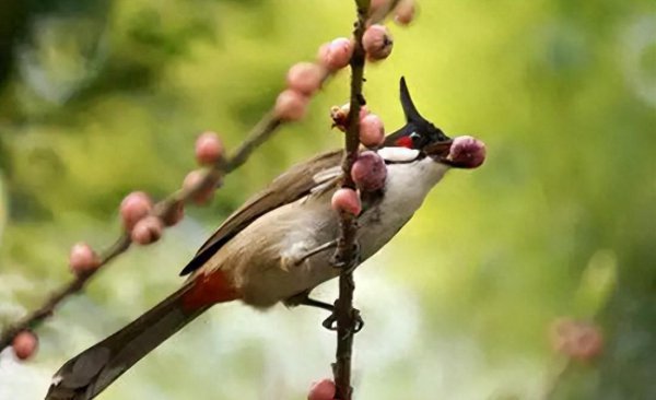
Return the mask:
{"type": "Polygon", "coordinates": [[[262,215],[219,252],[220,268],[233,277],[245,303],[266,308],[339,274],[330,263],[335,249],[308,252],[339,234],[327,199],[300,200],[262,215]]]}

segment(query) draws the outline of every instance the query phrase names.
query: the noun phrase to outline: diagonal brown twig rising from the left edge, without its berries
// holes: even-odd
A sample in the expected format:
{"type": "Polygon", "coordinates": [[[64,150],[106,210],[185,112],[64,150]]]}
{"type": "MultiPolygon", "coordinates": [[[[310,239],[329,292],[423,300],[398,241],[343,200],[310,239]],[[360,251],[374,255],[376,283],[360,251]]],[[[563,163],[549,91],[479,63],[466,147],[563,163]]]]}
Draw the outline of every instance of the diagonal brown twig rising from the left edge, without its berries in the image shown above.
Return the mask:
{"type": "MultiPolygon", "coordinates": [[[[188,202],[194,196],[203,191],[208,186],[215,185],[223,175],[230,174],[242,166],[248,160],[250,154],[259,145],[271,138],[276,129],[282,123],[283,121],[280,118],[277,118],[273,113],[268,113],[248,133],[247,139],[239,145],[232,157],[229,160],[221,158],[215,165],[207,168],[203,172],[202,179],[200,179],[197,185],[178,189],[157,202],[153,209],[153,214],[162,219],[166,219],[167,215],[174,214],[180,204],[188,202]]],[[[81,292],[86,282],[101,270],[101,267],[127,251],[128,248],[130,248],[130,235],[129,233],[124,232],[109,248],[101,254],[98,268],[85,273],[77,274],[71,282],[52,292],[40,307],[3,329],[2,334],[0,336],[0,351],[11,345],[13,338],[19,332],[36,329],[46,318],[55,313],[55,309],[65,298],[81,292]]]]}

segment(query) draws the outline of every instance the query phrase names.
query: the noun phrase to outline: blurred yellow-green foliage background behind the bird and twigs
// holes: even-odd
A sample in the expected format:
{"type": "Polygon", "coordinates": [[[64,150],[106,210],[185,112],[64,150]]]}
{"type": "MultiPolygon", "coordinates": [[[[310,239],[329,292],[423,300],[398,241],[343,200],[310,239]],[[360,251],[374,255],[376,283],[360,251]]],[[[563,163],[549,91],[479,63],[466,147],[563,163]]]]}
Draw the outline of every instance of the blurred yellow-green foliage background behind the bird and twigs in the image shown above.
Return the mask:
{"type": "MultiPolygon", "coordinates": [[[[656,3],[420,5],[413,26],[393,30],[391,58],[367,69],[370,108],[400,126],[403,74],[422,113],[484,140],[489,160],[453,172],[359,271],[358,398],[541,399],[561,365],[548,342],[559,316],[600,323],[605,351],[569,368],[555,398],[656,398],[656,3]]],[[[198,132],[236,145],[285,69],[353,19],[351,1],[328,0],[0,7],[0,322],[70,279],[72,243],[110,243],[127,192],[175,189],[198,132]]],[[[62,361],[171,292],[250,193],[340,145],[328,109],[347,96],[343,72],[212,207],[71,298],[39,331],[34,362],[0,368],[0,398],[40,398],[62,361]]],[[[244,308],[208,313],[104,398],[301,399],[330,374],[321,313],[244,308]]]]}

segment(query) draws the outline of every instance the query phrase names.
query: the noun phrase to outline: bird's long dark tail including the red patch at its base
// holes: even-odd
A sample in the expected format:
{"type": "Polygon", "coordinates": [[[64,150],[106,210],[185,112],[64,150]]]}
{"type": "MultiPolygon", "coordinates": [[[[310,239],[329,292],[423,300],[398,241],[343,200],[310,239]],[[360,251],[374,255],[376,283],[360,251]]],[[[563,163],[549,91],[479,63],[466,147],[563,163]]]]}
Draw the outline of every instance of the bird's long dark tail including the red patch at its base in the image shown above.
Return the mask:
{"type": "Polygon", "coordinates": [[[46,400],[89,400],[212,305],[234,299],[216,292],[223,279],[188,282],[118,332],[69,360],[52,377],[46,400]]]}

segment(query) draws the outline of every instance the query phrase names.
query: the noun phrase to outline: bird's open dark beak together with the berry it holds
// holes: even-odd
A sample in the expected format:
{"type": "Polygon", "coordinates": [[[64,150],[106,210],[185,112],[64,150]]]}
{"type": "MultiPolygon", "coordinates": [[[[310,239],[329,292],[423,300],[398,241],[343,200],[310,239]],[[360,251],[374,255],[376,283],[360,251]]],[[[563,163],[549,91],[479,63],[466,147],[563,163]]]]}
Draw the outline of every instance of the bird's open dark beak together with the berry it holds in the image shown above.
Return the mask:
{"type": "Polygon", "coordinates": [[[455,168],[477,168],[485,161],[485,143],[472,137],[431,143],[423,151],[436,162],[455,168]]]}

